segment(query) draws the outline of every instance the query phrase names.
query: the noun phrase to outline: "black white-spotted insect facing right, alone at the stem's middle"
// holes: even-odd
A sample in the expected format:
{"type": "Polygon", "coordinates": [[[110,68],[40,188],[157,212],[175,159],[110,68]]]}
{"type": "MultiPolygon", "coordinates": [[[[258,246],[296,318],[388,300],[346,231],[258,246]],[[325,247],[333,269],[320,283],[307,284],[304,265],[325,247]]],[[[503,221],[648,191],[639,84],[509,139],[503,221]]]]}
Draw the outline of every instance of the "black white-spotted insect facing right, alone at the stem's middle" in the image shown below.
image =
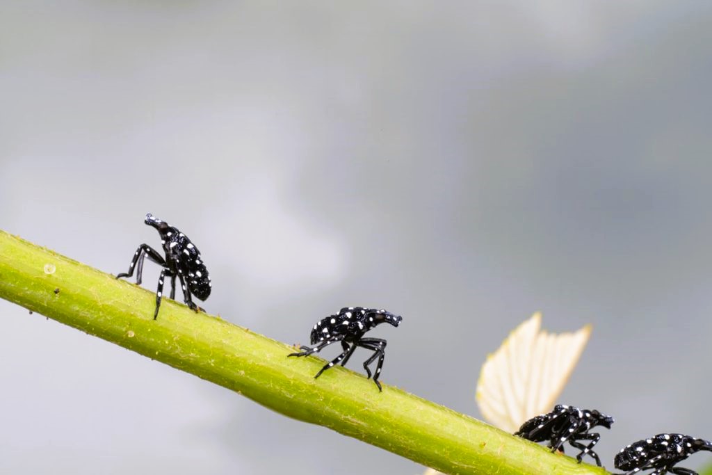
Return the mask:
{"type": "Polygon", "coordinates": [[[363,307],[348,307],[339,310],[339,313],[330,315],[327,318],[319,320],[311,331],[310,341],[314,348],[308,346],[299,347],[299,353],[291,353],[289,356],[308,356],[312,353],[319,353],[328,345],[341,342],[343,353],[335,357],[331,362],[324,365],[321,370],[314,376],[319,377],[321,373],[328,370],[334,365],[345,365],[357,347],[372,350],[371,355],[364,363],[363,367],[366,370],[367,377],[371,377],[372,373],[368,365],[378,358],[376,373],[373,375],[373,382],[378,386],[378,390],[382,391],[381,383],[378,382],[378,377],[381,375],[383,359],[385,356],[386,340],[381,338],[363,338],[363,335],[381,323],[390,323],[397,327],[403,318],[399,315],[387,312],[386,310],[377,310],[376,308],[363,307]]]}

